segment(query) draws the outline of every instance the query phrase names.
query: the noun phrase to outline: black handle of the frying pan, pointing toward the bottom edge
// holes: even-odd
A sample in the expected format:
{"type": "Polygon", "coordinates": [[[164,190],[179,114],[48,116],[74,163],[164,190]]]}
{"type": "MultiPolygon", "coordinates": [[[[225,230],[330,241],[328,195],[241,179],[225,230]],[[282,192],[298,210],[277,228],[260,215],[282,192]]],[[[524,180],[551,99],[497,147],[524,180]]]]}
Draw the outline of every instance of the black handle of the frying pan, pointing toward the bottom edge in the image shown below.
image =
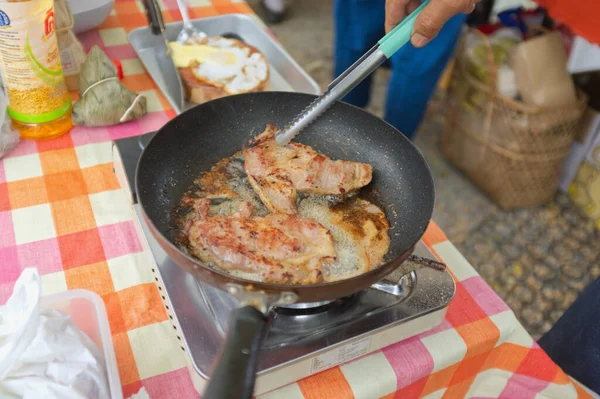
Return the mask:
{"type": "Polygon", "coordinates": [[[266,327],[267,316],[253,306],[231,312],[225,345],[203,399],[252,398],[266,327]]]}

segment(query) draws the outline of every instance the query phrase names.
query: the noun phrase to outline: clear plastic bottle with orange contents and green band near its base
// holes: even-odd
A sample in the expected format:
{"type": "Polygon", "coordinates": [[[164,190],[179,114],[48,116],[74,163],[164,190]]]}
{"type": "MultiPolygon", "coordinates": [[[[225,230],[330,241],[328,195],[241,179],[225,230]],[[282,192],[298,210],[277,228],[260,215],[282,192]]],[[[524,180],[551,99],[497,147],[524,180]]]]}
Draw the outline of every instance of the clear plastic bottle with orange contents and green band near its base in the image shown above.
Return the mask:
{"type": "Polygon", "coordinates": [[[53,0],[0,0],[0,65],[8,113],[26,139],[67,133],[71,98],[54,30],[53,0]]]}

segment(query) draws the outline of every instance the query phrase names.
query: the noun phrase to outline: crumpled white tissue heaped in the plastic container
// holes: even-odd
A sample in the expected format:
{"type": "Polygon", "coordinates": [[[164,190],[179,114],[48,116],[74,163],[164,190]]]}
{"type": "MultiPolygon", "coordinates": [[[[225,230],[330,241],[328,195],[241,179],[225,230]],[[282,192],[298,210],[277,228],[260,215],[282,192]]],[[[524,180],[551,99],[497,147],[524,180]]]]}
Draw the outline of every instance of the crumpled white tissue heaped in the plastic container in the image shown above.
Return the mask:
{"type": "Polygon", "coordinates": [[[43,309],[40,293],[27,268],[0,306],[0,397],[110,399],[101,351],[71,316],[43,309]]]}

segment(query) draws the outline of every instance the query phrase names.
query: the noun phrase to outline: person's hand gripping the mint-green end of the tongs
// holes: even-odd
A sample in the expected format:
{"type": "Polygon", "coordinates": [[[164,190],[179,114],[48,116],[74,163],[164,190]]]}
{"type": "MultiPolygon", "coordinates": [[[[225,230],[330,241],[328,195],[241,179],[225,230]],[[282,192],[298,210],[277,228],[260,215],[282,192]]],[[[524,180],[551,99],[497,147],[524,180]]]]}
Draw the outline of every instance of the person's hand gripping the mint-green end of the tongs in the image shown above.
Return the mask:
{"type": "MultiPolygon", "coordinates": [[[[410,41],[423,47],[433,39],[442,26],[456,14],[469,14],[479,0],[431,0],[415,21],[410,41]]],[[[407,15],[421,5],[420,0],[386,0],[385,31],[392,30],[407,15]]]]}

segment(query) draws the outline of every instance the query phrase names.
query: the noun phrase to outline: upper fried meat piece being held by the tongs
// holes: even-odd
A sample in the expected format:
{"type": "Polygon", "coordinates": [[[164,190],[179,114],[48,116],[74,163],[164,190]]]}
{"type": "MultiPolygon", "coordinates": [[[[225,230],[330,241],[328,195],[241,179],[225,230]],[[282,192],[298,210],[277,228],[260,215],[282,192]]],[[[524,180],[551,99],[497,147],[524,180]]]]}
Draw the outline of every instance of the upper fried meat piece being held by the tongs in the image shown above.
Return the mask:
{"type": "Polygon", "coordinates": [[[244,149],[248,181],[265,206],[275,213],[296,213],[296,193],[347,195],[371,182],[371,165],[333,161],[300,143],[280,146],[277,128],[267,129],[244,149]]]}

